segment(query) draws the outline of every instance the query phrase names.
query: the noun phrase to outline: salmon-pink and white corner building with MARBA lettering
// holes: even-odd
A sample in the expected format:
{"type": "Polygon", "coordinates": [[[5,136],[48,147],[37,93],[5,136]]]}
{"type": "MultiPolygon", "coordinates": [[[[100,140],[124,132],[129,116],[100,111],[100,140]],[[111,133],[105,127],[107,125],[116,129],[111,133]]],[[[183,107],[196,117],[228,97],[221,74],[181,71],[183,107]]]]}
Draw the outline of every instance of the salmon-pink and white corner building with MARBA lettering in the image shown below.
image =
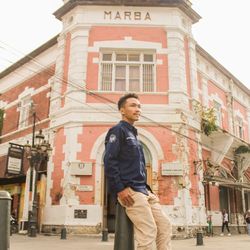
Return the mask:
{"type": "Polygon", "coordinates": [[[21,229],[32,175],[27,160],[18,175],[6,162],[10,142],[32,140],[32,108],[36,131],[53,148],[39,168],[39,228],[114,231],[104,138],[120,119],[119,97],[136,92],[148,183],[174,234],[206,226],[208,215],[220,226],[223,208],[242,230],[250,207],[250,91],[197,44],[192,25],[200,16],[191,3],[69,0],[54,15],[61,33],[0,73],[0,187],[15,197],[21,229]]]}

